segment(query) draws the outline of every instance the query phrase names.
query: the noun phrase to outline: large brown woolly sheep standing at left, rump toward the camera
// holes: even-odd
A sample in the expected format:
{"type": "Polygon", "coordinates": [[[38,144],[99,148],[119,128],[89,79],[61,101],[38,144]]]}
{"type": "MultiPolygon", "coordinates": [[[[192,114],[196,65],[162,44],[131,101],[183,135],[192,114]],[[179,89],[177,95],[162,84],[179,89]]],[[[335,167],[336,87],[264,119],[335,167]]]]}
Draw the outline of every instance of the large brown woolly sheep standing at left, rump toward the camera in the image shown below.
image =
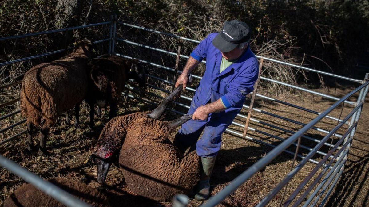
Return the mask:
{"type": "Polygon", "coordinates": [[[28,150],[33,147],[34,125],[41,127],[39,154],[42,155],[49,129],[62,112],[75,107],[75,125],[79,124],[79,103],[87,94],[87,63],[94,57],[93,47],[90,41],[81,41],[65,58],[39,64],[24,74],[20,109],[27,117],[28,150]]]}

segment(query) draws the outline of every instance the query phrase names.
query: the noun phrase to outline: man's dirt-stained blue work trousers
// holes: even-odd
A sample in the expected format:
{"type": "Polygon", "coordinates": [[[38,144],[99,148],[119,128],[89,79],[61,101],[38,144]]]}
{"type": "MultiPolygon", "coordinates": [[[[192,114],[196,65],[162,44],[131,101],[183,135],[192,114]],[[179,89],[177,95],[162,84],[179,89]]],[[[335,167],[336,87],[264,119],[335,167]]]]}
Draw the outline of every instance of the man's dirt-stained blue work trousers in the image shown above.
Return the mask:
{"type": "MultiPolygon", "coordinates": [[[[191,104],[187,114],[195,112],[197,107],[193,106],[194,104],[191,104]]],[[[200,157],[214,157],[220,150],[223,132],[232,123],[237,113],[238,111],[211,113],[206,120],[190,119],[182,124],[173,144],[184,151],[196,143],[197,155],[200,157]],[[197,141],[202,132],[203,135],[197,141]]]]}

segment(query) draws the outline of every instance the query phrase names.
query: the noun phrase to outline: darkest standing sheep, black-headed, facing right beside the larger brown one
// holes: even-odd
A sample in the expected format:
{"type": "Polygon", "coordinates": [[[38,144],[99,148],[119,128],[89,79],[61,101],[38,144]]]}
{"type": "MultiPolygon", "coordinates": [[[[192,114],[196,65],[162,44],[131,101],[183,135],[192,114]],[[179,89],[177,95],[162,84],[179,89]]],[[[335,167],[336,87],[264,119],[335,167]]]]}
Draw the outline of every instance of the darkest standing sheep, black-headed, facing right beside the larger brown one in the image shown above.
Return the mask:
{"type": "MultiPolygon", "coordinates": [[[[137,81],[144,87],[146,81],[145,70],[138,67],[137,62],[118,56],[92,59],[90,66],[90,89],[86,102],[93,107],[95,103],[100,107],[110,104],[109,118],[117,114],[117,105],[125,83],[129,79],[137,81]]],[[[89,127],[93,127],[94,110],[90,113],[89,127]]]]}

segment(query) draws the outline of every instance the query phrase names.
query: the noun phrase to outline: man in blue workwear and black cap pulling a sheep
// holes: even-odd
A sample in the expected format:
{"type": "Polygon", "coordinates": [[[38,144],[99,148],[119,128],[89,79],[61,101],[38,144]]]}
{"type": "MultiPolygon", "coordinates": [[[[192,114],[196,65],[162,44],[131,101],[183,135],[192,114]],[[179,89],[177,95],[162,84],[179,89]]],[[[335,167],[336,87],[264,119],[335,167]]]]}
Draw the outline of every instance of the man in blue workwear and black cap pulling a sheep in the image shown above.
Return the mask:
{"type": "Polygon", "coordinates": [[[242,109],[245,96],[254,90],[258,78],[258,60],[249,49],[251,30],[239,20],[224,22],[219,33],[208,35],[192,51],[176,87],[186,88],[188,75],[206,59],[206,70],[187,114],[193,117],[182,124],[174,144],[185,150],[196,143],[203,171],[196,200],[210,195],[210,175],[221,146],[221,135],[242,109]]]}

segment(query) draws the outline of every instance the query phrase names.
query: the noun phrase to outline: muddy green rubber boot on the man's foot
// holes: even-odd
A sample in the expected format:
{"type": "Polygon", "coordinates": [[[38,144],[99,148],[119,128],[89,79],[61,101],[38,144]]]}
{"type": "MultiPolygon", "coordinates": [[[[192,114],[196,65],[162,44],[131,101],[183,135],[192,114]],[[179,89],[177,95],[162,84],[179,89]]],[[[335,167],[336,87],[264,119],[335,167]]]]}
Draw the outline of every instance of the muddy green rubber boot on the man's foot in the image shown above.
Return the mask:
{"type": "Polygon", "coordinates": [[[210,196],[210,176],[213,171],[213,167],[215,164],[214,157],[201,157],[201,163],[203,165],[203,172],[201,173],[201,178],[199,185],[196,189],[196,200],[206,200],[210,196]]]}

